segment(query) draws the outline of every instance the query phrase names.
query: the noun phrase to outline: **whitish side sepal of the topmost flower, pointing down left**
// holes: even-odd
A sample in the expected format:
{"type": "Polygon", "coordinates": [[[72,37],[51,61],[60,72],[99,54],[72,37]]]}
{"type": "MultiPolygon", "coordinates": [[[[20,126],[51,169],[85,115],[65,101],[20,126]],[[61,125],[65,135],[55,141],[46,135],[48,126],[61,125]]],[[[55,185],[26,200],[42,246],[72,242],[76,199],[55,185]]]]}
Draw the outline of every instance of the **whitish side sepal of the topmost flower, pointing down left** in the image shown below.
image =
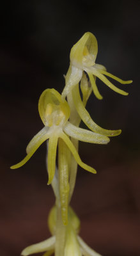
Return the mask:
{"type": "Polygon", "coordinates": [[[82,77],[82,69],[70,65],[66,74],[66,85],[62,92],[62,99],[65,99],[66,95],[74,88],[75,84],[78,84],[82,77]]]}

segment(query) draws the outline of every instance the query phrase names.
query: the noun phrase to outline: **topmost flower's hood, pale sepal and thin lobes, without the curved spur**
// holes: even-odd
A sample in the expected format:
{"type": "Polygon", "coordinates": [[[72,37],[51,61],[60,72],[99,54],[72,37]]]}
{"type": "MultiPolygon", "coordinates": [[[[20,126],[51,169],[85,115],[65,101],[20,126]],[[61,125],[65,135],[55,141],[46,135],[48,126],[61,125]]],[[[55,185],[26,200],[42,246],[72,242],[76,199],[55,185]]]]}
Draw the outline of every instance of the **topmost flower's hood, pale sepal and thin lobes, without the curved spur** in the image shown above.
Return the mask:
{"type": "Polygon", "coordinates": [[[130,84],[130,81],[123,81],[120,78],[113,76],[105,70],[105,67],[99,64],[95,64],[97,58],[98,45],[95,36],[86,32],[81,37],[81,39],[72,47],[70,52],[70,67],[66,74],[66,85],[62,93],[62,97],[65,98],[68,92],[81,81],[82,72],[85,71],[88,74],[91,86],[93,88],[93,93],[98,99],[102,99],[102,95],[98,92],[97,85],[93,76],[98,77],[103,81],[109,88],[118,92],[122,95],[128,95],[127,92],[118,89],[111,83],[105,76],[111,77],[114,80],[120,82],[121,84],[130,84]]]}

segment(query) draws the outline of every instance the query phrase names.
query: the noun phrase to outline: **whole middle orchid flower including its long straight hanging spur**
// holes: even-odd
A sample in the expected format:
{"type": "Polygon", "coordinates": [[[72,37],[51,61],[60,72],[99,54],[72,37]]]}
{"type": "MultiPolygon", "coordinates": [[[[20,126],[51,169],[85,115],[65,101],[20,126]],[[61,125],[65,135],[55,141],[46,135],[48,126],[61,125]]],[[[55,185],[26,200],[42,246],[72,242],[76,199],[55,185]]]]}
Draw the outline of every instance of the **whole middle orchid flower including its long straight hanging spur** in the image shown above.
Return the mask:
{"type": "Polygon", "coordinates": [[[47,184],[51,184],[54,179],[56,170],[56,150],[58,145],[58,162],[59,162],[59,182],[60,182],[60,198],[61,212],[63,223],[67,224],[67,207],[69,195],[69,166],[68,166],[68,151],[72,152],[75,161],[85,170],[91,173],[96,173],[96,170],[81,161],[79,154],[74,147],[69,136],[77,140],[107,144],[109,138],[95,132],[76,127],[68,122],[70,117],[70,108],[68,103],[61,99],[61,95],[54,89],[45,90],[40,96],[38,102],[38,110],[45,127],[38,132],[29,142],[26,148],[27,156],[20,163],[13,165],[11,168],[19,168],[23,166],[40,145],[49,140],[47,154],[47,171],[49,180],[47,184]],[[67,155],[66,155],[67,154],[67,155]]]}

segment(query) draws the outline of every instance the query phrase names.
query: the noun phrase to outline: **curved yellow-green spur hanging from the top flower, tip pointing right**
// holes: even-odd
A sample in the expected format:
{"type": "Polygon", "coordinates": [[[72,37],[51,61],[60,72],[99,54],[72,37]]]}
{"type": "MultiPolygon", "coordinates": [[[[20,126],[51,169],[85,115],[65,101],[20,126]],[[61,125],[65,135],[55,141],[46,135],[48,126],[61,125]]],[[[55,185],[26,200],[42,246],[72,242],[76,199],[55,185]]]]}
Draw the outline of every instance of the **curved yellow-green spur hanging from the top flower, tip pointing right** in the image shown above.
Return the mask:
{"type": "Polygon", "coordinates": [[[95,124],[95,122],[92,120],[91,116],[89,115],[88,111],[86,111],[86,108],[84,108],[84,105],[81,100],[81,96],[79,93],[79,86],[75,86],[72,96],[74,99],[74,104],[77,109],[77,112],[79,113],[79,116],[81,116],[82,121],[84,124],[88,126],[88,128],[93,131],[97,132],[99,134],[105,135],[105,136],[117,136],[121,133],[121,130],[106,130],[102,127],[95,124]]]}

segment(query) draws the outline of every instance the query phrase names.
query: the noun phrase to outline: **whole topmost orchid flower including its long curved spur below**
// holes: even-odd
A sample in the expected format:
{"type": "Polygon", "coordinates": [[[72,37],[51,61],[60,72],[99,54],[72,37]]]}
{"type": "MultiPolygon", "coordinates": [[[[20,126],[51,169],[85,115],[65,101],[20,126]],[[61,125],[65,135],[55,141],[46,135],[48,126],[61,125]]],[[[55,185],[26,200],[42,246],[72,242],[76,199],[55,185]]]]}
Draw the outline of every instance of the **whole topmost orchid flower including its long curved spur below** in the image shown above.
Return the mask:
{"type": "Polygon", "coordinates": [[[95,124],[85,108],[86,102],[92,90],[98,99],[102,99],[96,85],[96,77],[102,80],[107,86],[109,86],[109,88],[122,95],[128,95],[128,93],[118,89],[105,76],[111,77],[121,84],[132,83],[132,80],[123,81],[108,73],[104,66],[95,64],[97,52],[97,39],[89,32],[85,33],[77,44],[72,47],[70,52],[70,67],[68,68],[68,72],[65,77],[65,88],[62,92],[62,99],[65,99],[66,96],[67,98],[70,98],[70,100],[68,99],[68,103],[69,101],[71,103],[69,103],[70,108],[76,109],[84,124],[86,124],[91,131],[105,136],[117,136],[121,133],[120,129],[107,130],[95,124]],[[88,75],[89,82],[84,72],[88,75]],[[81,82],[82,100],[79,92],[79,82],[81,82]]]}

